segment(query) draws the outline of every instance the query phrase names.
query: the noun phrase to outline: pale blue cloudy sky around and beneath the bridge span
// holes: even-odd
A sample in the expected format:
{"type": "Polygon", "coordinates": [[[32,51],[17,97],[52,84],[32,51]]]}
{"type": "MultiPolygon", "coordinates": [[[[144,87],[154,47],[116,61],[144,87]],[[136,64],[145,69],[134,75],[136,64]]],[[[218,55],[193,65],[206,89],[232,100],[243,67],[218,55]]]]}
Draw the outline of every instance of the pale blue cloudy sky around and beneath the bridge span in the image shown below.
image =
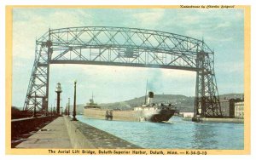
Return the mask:
{"type": "MultiPolygon", "coordinates": [[[[203,39],[215,53],[219,94],[243,93],[244,14],[242,9],[14,9],[12,105],[22,107],[32,73],[35,41],[46,31],[73,26],[120,26],[166,31],[203,39]]],[[[50,65],[49,106],[85,104],[93,92],[98,103],[130,100],[149,90],[155,94],[195,96],[195,72],[125,66],[50,65]]]]}

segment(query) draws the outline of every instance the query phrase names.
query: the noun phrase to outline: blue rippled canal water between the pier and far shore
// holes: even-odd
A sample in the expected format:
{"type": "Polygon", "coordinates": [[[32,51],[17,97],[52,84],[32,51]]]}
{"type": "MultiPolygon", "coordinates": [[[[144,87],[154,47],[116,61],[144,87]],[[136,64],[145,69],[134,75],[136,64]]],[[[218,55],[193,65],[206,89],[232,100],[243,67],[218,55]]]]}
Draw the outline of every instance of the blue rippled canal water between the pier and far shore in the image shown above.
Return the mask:
{"type": "Polygon", "coordinates": [[[90,124],[143,148],[243,150],[241,123],[193,123],[172,117],[167,123],[121,122],[78,116],[90,124]]]}

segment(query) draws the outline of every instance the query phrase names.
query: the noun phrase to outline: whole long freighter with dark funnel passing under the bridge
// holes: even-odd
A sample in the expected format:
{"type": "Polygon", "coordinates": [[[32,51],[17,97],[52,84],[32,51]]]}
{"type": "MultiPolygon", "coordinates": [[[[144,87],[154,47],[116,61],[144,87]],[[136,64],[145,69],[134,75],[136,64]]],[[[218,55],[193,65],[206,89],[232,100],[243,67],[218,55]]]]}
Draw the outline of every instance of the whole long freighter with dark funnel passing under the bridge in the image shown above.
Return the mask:
{"type": "Polygon", "coordinates": [[[114,121],[149,121],[154,123],[168,121],[176,109],[172,104],[154,104],[153,98],[154,93],[148,92],[148,102],[143,106],[134,107],[133,110],[109,110],[98,106],[92,96],[89,103],[84,106],[84,116],[114,121]]]}

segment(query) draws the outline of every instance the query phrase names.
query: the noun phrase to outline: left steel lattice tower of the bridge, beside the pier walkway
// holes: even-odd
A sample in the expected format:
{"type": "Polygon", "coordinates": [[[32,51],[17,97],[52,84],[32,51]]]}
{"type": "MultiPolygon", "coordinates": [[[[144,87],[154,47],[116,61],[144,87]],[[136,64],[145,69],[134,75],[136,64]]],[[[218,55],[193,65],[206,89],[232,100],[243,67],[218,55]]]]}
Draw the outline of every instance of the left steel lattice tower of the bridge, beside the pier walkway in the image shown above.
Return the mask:
{"type": "Polygon", "coordinates": [[[38,112],[48,113],[49,98],[49,60],[53,53],[50,30],[44,41],[36,41],[35,60],[26,91],[23,111],[32,111],[37,101],[38,112]]]}

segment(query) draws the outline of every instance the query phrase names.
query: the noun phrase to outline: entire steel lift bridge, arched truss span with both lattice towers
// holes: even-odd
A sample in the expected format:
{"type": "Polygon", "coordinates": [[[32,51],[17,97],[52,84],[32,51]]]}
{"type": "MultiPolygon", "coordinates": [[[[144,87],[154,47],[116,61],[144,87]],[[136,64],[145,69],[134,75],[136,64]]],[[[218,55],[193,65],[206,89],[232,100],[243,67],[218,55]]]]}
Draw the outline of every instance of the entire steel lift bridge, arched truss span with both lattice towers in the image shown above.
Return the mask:
{"type": "Polygon", "coordinates": [[[90,64],[196,71],[195,116],[221,117],[214,52],[204,41],[138,28],[84,26],[47,31],[36,41],[25,111],[48,111],[49,65],[90,64]]]}

